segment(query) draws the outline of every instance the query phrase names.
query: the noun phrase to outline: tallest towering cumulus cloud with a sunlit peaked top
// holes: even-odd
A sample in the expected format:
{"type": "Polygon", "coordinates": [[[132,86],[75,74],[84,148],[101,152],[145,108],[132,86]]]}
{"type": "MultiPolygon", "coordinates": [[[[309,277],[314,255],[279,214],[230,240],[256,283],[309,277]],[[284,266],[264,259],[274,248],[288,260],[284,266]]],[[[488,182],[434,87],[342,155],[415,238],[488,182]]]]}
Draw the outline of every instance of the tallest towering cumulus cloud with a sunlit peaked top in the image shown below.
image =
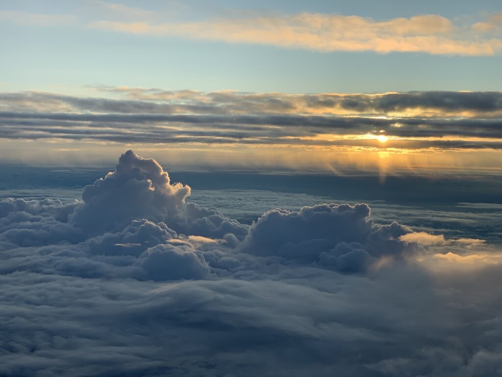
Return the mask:
{"type": "Polygon", "coordinates": [[[242,237],[246,227],[224,218],[215,210],[186,204],[190,187],[171,184],[167,172],[153,159],[129,150],[122,154],[114,172],[84,187],[82,202],[70,222],[90,232],[118,230],[132,220],[147,218],[170,224],[175,231],[199,236],[242,237]]]}

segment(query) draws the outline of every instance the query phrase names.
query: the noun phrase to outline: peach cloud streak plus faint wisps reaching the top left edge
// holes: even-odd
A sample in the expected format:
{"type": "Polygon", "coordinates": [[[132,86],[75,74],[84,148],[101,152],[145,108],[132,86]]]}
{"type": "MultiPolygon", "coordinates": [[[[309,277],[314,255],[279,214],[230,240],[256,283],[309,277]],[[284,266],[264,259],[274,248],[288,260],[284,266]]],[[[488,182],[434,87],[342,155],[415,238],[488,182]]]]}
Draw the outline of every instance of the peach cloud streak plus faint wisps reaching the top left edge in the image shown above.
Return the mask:
{"type": "Polygon", "coordinates": [[[502,13],[470,17],[470,23],[440,15],[375,20],[326,13],[265,14],[237,12],[219,18],[184,21],[173,12],[94,1],[88,13],[45,15],[1,11],[19,24],[75,23],[110,32],[251,43],[311,51],[418,52],[434,55],[494,55],[502,51],[502,13]],[[167,21],[169,20],[169,21],[167,21]]]}

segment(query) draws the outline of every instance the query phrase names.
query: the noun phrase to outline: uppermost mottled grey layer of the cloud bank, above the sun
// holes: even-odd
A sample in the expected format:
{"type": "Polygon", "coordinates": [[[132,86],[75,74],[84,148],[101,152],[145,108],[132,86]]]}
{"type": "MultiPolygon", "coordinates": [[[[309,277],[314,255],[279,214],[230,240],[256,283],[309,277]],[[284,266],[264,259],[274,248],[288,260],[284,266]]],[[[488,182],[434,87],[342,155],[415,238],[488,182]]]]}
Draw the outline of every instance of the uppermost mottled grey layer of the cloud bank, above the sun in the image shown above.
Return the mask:
{"type": "Polygon", "coordinates": [[[199,92],[163,91],[142,88],[97,88],[126,96],[126,99],[80,98],[49,92],[1,93],[5,106],[33,108],[68,108],[102,113],[150,114],[245,114],[245,113],[316,113],[339,109],[355,113],[436,110],[440,112],[475,112],[488,115],[502,111],[500,91],[410,91],[379,94],[318,93],[249,93],[236,91],[199,92]]]}

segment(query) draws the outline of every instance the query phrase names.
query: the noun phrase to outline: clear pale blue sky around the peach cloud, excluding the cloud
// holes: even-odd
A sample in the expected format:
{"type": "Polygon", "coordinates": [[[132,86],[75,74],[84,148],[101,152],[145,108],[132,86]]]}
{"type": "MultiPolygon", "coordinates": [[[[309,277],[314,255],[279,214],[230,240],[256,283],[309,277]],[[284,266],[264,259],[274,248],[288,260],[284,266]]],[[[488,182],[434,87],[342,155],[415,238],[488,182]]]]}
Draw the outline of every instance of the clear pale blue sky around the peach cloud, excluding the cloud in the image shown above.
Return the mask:
{"type": "MultiPolygon", "coordinates": [[[[107,3],[112,5],[112,3],[107,3]]],[[[4,17],[0,70],[3,91],[47,90],[79,94],[85,85],[161,87],[203,91],[235,89],[281,92],[385,92],[408,90],[498,90],[500,54],[459,56],[424,52],[316,51],[301,47],[143,35],[83,24],[153,11],[155,23],[234,19],[242,12],[284,17],[300,13],[340,14],[388,21],[440,15],[472,25],[500,11],[499,2],[122,2],[124,18],[104,13],[106,4],[0,2],[2,11],[68,15],[68,23],[15,22],[4,17]]],[[[141,14],[138,16],[141,19],[141,14]]],[[[490,38],[492,36],[489,36],[490,38]]]]}

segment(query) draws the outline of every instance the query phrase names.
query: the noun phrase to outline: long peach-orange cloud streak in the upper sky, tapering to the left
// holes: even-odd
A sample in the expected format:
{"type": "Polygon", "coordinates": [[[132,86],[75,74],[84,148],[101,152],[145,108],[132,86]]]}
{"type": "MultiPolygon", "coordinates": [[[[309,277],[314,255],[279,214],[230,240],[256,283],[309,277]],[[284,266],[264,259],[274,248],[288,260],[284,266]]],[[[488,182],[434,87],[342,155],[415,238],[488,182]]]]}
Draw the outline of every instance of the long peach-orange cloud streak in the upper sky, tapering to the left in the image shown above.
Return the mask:
{"type": "MultiPolygon", "coordinates": [[[[502,49],[497,38],[475,38],[439,15],[419,15],[375,21],[359,16],[301,13],[253,15],[196,22],[94,21],[90,27],[142,35],[181,36],[228,43],[266,44],[331,51],[422,52],[446,55],[494,55],[502,49]]],[[[483,28],[475,24],[479,32],[483,28]],[[477,26],[476,26],[477,25],[477,26]]]]}

